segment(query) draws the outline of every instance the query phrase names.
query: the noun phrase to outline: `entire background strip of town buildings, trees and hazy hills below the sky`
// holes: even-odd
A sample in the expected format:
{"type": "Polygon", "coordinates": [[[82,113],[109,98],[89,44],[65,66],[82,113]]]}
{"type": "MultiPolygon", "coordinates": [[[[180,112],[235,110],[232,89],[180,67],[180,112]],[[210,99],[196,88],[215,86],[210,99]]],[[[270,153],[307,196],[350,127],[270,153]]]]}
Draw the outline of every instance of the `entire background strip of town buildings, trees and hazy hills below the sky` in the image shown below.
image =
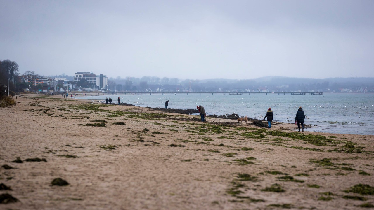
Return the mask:
{"type": "MultiPolygon", "coordinates": [[[[14,61],[0,61],[0,83],[10,92],[374,92],[374,78],[291,78],[261,77],[250,80],[208,79],[181,80],[144,76],[108,78],[95,72],[76,72],[74,75],[41,76],[34,71],[19,73],[14,61]],[[9,78],[9,80],[7,79],[9,78]]],[[[219,75],[218,75],[219,76],[219,75]]]]}

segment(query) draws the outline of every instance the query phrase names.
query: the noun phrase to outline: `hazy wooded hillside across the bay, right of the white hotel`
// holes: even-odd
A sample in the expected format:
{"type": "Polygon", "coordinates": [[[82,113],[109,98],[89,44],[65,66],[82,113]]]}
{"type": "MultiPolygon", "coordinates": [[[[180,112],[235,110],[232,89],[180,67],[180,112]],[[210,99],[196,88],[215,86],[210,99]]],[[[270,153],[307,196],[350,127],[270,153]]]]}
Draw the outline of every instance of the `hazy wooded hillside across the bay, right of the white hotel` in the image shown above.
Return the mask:
{"type": "Polygon", "coordinates": [[[324,91],[341,92],[350,89],[352,92],[374,92],[374,78],[291,78],[261,77],[251,80],[208,79],[179,80],[178,78],[159,77],[126,77],[109,78],[109,89],[117,91],[324,91]]]}

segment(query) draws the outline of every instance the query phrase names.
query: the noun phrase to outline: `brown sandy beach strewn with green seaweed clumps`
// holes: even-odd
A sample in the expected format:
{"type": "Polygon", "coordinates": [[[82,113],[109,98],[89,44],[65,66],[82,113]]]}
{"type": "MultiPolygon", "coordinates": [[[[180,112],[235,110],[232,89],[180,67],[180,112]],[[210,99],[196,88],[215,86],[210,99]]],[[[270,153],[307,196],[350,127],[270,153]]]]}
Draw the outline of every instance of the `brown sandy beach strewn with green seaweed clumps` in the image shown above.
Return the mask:
{"type": "Polygon", "coordinates": [[[61,95],[16,101],[0,109],[0,183],[12,189],[0,194],[18,202],[0,209],[374,205],[374,136],[299,133],[284,123],[264,129],[251,121],[201,122],[61,95]],[[12,162],[18,157],[23,163],[12,162]],[[69,184],[52,185],[55,178],[69,184]]]}

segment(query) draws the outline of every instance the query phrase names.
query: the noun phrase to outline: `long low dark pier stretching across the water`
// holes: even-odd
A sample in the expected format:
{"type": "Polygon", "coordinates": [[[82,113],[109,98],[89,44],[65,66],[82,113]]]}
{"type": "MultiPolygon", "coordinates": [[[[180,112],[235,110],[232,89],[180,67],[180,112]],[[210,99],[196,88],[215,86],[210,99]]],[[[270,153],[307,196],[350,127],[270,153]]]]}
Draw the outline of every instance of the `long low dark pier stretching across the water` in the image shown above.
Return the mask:
{"type": "Polygon", "coordinates": [[[204,94],[206,94],[206,93],[208,93],[208,94],[211,94],[211,95],[214,95],[214,93],[215,94],[223,94],[223,95],[226,95],[226,93],[227,94],[229,94],[229,95],[245,95],[245,94],[249,94],[249,95],[251,95],[251,94],[253,94],[253,95],[255,95],[255,94],[278,94],[278,95],[319,95],[319,96],[321,96],[321,95],[324,95],[324,92],[180,92],[180,91],[178,91],[178,92],[149,92],[149,91],[144,91],[144,92],[134,92],[134,91],[124,91],[124,92],[117,92],[117,93],[119,93],[119,94],[121,94],[121,93],[124,93],[125,95],[127,95],[127,94],[131,94],[131,95],[139,95],[139,94],[148,94],[149,93],[149,95],[151,95],[152,93],[156,93],[156,94],[162,94],[162,95],[164,95],[164,93],[168,93],[168,94],[177,94],[177,93],[183,93],[183,94],[185,94],[185,93],[187,93],[187,95],[188,95],[188,93],[199,93],[200,95],[201,95],[201,93],[204,93],[204,94]]]}

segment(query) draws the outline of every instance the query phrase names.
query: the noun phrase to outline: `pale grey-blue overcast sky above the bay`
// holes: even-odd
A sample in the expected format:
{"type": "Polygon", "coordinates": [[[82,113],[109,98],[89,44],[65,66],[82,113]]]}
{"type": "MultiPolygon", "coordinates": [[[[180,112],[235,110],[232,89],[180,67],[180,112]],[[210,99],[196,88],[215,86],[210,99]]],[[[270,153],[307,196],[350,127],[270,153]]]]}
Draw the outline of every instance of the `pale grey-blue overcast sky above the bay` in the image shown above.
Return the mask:
{"type": "Polygon", "coordinates": [[[374,0],[0,0],[0,59],[40,75],[374,77],[374,0]]]}

